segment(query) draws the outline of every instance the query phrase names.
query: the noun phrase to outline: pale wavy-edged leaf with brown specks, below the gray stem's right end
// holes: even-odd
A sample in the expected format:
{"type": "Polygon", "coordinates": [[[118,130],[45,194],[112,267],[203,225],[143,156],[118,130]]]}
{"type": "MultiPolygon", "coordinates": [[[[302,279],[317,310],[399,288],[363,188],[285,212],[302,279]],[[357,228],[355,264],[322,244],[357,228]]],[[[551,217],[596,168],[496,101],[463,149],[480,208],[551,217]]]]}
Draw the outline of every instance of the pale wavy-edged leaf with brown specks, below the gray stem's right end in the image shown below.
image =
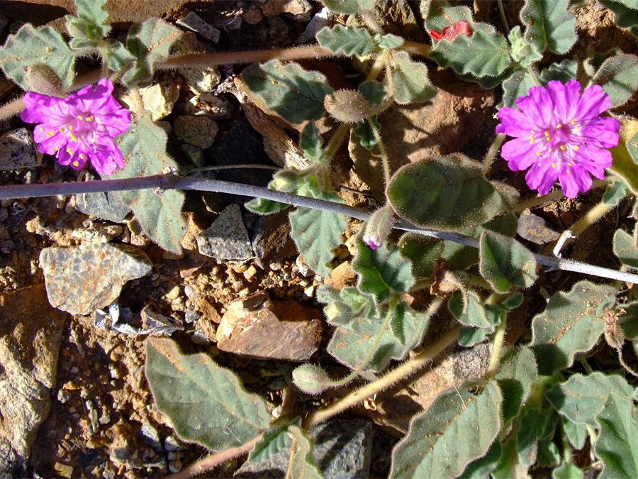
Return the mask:
{"type": "Polygon", "coordinates": [[[544,312],[532,320],[530,346],[540,374],[551,376],[556,370],[569,368],[575,353],[593,348],[605,326],[596,310],[615,293],[613,287],[581,281],[569,293],[552,296],[544,312]]]}

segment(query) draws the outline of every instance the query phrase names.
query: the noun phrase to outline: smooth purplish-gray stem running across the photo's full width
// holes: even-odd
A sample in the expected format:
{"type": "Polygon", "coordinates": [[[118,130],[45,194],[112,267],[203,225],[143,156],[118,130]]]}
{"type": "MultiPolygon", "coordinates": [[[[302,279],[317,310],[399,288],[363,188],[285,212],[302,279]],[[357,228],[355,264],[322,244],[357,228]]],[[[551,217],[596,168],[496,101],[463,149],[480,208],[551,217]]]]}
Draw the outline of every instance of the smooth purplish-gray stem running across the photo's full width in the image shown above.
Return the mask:
{"type": "MultiPolygon", "coordinates": [[[[163,189],[186,189],[194,191],[230,193],[251,198],[271,199],[274,202],[292,204],[296,207],[306,207],[330,211],[335,214],[352,216],[352,218],[367,221],[371,213],[363,209],[349,207],[346,204],[328,202],[323,199],[301,197],[296,194],[278,192],[274,189],[242,185],[221,180],[208,180],[206,178],[180,177],[177,175],[155,175],[141,178],[122,178],[121,180],[93,180],[86,182],[48,183],[46,185],[9,185],[0,187],[0,199],[51,197],[56,194],[82,194],[111,191],[127,191],[131,189],[157,189],[158,194],[163,189]]],[[[409,224],[407,221],[396,221],[395,229],[412,231],[414,233],[430,236],[447,241],[454,241],[465,246],[478,248],[478,241],[459,233],[449,233],[427,228],[420,228],[409,224]]],[[[582,272],[586,275],[606,277],[610,280],[630,282],[638,284],[638,275],[629,272],[610,270],[600,266],[588,265],[579,261],[552,258],[544,255],[535,255],[541,265],[555,270],[582,272]]]]}

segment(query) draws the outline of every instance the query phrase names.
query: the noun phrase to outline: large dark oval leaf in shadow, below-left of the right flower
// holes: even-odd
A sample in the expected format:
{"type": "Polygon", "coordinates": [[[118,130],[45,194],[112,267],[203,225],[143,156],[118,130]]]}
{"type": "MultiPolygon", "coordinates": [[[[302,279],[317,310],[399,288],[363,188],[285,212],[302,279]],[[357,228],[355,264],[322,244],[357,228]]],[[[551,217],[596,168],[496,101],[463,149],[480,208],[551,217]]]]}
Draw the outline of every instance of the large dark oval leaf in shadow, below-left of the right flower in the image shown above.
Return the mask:
{"type": "Polygon", "coordinates": [[[418,226],[459,229],[486,223],[513,207],[518,192],[489,182],[481,163],[458,156],[436,156],[401,167],[388,185],[398,216],[418,226]]]}

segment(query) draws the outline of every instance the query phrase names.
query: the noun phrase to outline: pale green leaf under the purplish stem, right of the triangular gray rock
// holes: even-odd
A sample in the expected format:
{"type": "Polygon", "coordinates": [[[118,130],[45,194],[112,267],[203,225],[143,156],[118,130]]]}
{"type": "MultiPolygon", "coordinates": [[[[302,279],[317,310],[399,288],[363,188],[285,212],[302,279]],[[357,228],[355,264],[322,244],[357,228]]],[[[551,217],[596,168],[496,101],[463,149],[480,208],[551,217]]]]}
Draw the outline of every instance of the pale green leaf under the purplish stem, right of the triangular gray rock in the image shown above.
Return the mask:
{"type": "MultiPolygon", "coordinates": [[[[317,190],[303,196],[319,197],[330,202],[343,203],[336,193],[321,193],[317,190]]],[[[289,215],[291,236],[299,253],[306,258],[308,266],[322,276],[330,275],[330,261],[335,257],[334,249],[342,243],[341,234],[347,226],[342,214],[298,207],[289,215]]]]}

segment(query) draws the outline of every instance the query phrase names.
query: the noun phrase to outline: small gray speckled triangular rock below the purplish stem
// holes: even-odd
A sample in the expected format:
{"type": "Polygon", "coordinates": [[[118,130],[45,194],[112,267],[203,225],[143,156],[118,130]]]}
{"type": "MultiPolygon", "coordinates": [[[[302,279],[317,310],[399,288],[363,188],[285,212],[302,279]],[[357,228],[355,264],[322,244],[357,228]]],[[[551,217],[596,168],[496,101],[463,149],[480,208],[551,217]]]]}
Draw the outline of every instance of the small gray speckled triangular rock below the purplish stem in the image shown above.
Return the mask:
{"type": "Polygon", "coordinates": [[[199,252],[217,260],[247,260],[252,258],[250,238],[240,207],[229,204],[211,227],[197,237],[199,252]]]}

